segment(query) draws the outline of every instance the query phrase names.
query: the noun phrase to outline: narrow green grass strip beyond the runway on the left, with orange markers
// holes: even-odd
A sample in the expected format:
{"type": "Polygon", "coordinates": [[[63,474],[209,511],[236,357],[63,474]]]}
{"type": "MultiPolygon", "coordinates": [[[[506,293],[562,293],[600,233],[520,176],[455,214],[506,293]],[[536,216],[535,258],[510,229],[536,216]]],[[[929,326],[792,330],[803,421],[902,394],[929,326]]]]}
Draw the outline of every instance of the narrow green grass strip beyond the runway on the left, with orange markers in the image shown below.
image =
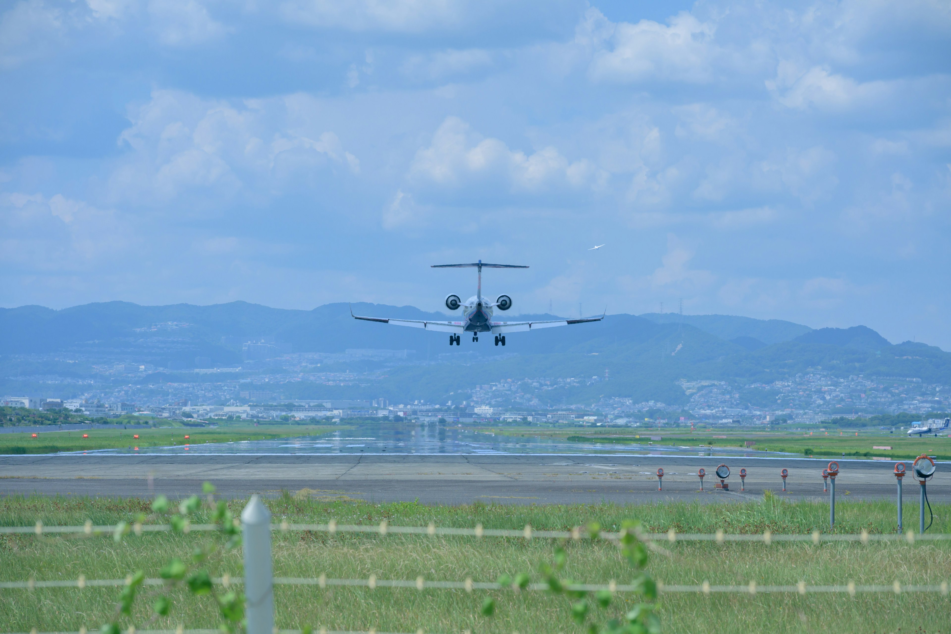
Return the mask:
{"type": "Polygon", "coordinates": [[[165,447],[184,444],[221,443],[240,440],[271,440],[288,436],[309,435],[347,429],[320,425],[223,424],[218,429],[171,427],[148,430],[76,430],[73,432],[13,432],[0,435],[0,454],[55,453],[57,451],[91,451],[97,449],[131,449],[133,447],[165,447]],[[88,437],[84,438],[83,434],[88,437]],[[138,438],[135,438],[135,435],[138,438]],[[185,439],[185,435],[189,437],[185,439]]]}

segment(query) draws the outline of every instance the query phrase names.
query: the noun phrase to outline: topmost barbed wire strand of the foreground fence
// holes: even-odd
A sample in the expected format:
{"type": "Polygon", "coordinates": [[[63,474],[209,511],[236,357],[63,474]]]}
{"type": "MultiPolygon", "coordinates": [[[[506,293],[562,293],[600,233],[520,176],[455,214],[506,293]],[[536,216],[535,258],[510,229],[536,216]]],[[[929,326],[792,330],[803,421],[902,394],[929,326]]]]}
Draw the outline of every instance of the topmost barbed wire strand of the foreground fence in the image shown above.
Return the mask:
{"type": "MultiPolygon", "coordinates": [[[[235,526],[240,523],[235,520],[235,526]]],[[[214,524],[190,524],[185,522],[183,532],[218,530],[220,527],[214,524]]],[[[115,535],[133,532],[141,535],[144,532],[167,532],[172,530],[168,524],[117,524],[94,526],[87,522],[84,526],[45,526],[42,522],[37,522],[28,527],[0,527],[0,534],[32,533],[35,535],[44,534],[84,534],[84,535],[115,535]]],[[[385,521],[378,525],[359,525],[359,524],[337,524],[331,520],[327,524],[291,524],[286,521],[281,524],[272,524],[272,531],[304,531],[325,532],[328,534],[336,533],[376,533],[378,535],[405,534],[405,535],[429,535],[429,536],[459,536],[459,537],[520,537],[523,539],[543,538],[543,539],[590,539],[600,537],[603,539],[615,540],[621,537],[621,533],[610,531],[599,531],[593,536],[586,528],[572,528],[571,530],[535,530],[531,525],[525,525],[524,528],[482,528],[477,524],[475,528],[447,528],[437,527],[430,524],[427,527],[394,527],[389,526],[385,521]]],[[[809,534],[791,534],[791,533],[773,533],[769,530],[762,533],[726,533],[723,530],[717,530],[713,533],[678,533],[672,528],[664,533],[644,533],[641,535],[645,539],[653,541],[667,541],[672,543],[682,542],[716,542],[724,544],[726,542],[763,542],[771,544],[772,542],[812,542],[819,544],[821,542],[899,542],[905,541],[914,544],[918,541],[940,542],[951,540],[951,533],[932,533],[915,534],[913,530],[904,533],[869,533],[862,530],[859,533],[823,533],[819,530],[813,530],[809,534]]]]}

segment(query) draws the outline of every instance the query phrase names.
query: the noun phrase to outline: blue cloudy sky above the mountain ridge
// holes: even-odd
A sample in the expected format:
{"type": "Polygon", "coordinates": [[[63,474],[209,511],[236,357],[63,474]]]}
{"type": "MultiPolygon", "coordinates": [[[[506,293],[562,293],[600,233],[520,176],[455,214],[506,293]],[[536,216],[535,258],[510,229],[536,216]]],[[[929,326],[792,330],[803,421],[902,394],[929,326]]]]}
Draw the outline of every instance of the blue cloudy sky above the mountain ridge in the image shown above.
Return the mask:
{"type": "Polygon", "coordinates": [[[438,310],[480,258],[514,313],[951,349],[947,2],[0,8],[4,306],[438,310]]]}

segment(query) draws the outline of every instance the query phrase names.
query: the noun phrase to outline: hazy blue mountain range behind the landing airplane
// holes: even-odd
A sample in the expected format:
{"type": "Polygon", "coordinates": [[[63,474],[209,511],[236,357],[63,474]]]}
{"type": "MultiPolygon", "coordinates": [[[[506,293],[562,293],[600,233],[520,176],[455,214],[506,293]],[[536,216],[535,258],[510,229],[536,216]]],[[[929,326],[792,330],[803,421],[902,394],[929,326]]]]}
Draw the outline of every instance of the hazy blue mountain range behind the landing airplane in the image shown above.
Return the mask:
{"type": "MultiPolygon", "coordinates": [[[[505,347],[495,347],[491,336],[483,336],[477,344],[463,337],[461,347],[450,348],[443,334],[357,321],[350,317],[351,310],[373,317],[449,318],[412,306],[366,303],[326,304],[311,311],[243,301],[212,306],[113,301],[63,310],[23,306],[0,309],[0,372],[8,377],[82,375],[95,359],[165,367],[173,365],[168,361],[178,361],[182,367],[194,365],[196,356],[227,367],[242,363],[243,341],[267,338],[300,353],[416,351],[411,355],[416,363],[391,368],[373,388],[378,395],[399,398],[441,398],[503,378],[590,378],[603,377],[606,371],[610,381],[579,387],[577,394],[677,403],[685,398],[682,380],[772,383],[810,369],[951,385],[951,353],[910,341],[891,344],[865,326],[812,329],[779,319],[724,315],[611,315],[599,323],[511,334],[505,347]],[[70,355],[91,360],[68,364],[70,355]]],[[[354,371],[367,369],[365,363],[340,362],[341,372],[344,365],[354,371]]],[[[332,367],[325,364],[328,371],[332,367]]],[[[6,383],[4,389],[16,388],[9,379],[6,383]]],[[[298,388],[320,392],[293,394],[300,397],[358,395],[357,388],[298,388]]]]}

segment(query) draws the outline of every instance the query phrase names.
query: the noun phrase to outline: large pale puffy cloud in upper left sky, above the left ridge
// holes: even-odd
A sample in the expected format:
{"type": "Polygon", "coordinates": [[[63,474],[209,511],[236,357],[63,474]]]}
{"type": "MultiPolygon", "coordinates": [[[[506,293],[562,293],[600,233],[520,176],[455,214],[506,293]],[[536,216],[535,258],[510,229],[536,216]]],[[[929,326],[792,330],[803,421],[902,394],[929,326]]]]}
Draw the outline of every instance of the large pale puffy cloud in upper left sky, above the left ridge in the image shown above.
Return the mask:
{"type": "Polygon", "coordinates": [[[358,174],[359,159],[334,132],[301,121],[310,108],[290,97],[232,104],[156,90],[129,110],[132,125],[120,144],[132,153],[112,173],[113,196],[141,200],[150,192],[167,201],[186,190],[266,196],[309,182],[327,167],[358,174]]]}

